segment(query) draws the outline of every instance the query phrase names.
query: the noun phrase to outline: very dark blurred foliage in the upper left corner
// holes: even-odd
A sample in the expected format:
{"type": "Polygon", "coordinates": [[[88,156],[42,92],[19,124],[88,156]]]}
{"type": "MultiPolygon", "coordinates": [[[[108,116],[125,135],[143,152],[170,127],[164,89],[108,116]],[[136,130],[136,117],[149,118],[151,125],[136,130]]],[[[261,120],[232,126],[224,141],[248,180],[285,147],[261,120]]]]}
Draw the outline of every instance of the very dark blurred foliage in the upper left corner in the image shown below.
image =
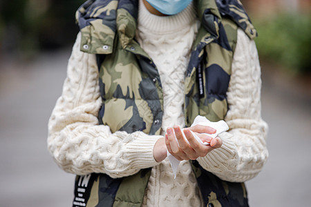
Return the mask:
{"type": "Polygon", "coordinates": [[[78,32],[75,11],[85,0],[0,2],[0,48],[28,56],[72,45],[78,32]]]}

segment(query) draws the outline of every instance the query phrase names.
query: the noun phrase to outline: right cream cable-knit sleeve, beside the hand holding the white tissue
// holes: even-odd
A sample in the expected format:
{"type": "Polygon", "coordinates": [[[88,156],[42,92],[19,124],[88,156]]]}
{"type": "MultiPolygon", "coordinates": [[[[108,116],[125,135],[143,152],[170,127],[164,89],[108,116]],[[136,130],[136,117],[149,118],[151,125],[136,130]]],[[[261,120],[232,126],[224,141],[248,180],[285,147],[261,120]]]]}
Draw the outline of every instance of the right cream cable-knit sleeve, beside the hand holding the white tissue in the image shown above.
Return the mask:
{"type": "Polygon", "coordinates": [[[261,69],[256,45],[240,29],[227,101],[229,131],[219,135],[223,146],[198,161],[221,179],[246,181],[261,171],[268,157],[267,124],[261,119],[261,69]]]}

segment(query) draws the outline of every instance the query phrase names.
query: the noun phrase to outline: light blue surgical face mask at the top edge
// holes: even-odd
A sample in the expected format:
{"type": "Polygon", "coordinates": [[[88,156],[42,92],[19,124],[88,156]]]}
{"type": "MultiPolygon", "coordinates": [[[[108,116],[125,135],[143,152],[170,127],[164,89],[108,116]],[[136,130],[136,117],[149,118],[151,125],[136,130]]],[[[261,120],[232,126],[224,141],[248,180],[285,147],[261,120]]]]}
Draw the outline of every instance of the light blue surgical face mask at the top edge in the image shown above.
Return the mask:
{"type": "Polygon", "coordinates": [[[146,0],[162,14],[173,15],[184,10],[192,0],[146,0]]]}

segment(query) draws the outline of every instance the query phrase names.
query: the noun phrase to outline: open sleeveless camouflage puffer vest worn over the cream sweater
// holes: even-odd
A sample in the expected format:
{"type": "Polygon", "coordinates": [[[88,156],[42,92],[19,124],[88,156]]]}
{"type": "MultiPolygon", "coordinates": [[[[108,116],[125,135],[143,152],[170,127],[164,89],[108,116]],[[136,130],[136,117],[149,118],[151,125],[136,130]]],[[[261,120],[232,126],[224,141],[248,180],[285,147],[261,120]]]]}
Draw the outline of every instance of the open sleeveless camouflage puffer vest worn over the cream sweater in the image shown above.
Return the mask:
{"type": "MultiPolygon", "coordinates": [[[[194,1],[201,26],[185,78],[185,123],[197,115],[224,119],[237,29],[250,39],[256,30],[238,0],[194,1]]],[[[160,135],[163,95],[160,75],[137,41],[138,1],[89,0],[77,10],[81,50],[97,56],[102,107],[100,124],[111,131],[160,135]]],[[[248,206],[244,184],[223,181],[191,161],[205,206],[248,206]]],[[[141,206],[151,168],[112,179],[77,176],[73,206],[141,206]]],[[[173,179],[173,178],[172,178],[173,179]]]]}

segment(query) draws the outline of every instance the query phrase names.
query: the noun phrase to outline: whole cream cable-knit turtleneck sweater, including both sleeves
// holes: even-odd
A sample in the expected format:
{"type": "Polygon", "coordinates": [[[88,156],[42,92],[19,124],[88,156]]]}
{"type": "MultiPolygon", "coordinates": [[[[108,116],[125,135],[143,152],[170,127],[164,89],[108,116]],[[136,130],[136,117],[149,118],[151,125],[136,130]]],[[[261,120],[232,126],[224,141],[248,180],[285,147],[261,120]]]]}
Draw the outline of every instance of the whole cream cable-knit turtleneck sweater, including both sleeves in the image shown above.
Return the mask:
{"type": "MultiPolygon", "coordinates": [[[[156,63],[164,93],[162,135],[169,126],[184,126],[183,84],[189,52],[198,24],[192,4],[174,17],[150,14],[140,1],[140,46],[156,63]]],[[[153,146],[161,136],[143,132],[111,133],[99,126],[102,99],[95,55],[79,50],[78,34],[68,62],[62,96],[48,124],[48,149],[66,172],[85,175],[102,172],[111,177],[135,174],[153,167],[143,206],[202,206],[189,161],[182,161],[176,179],[169,161],[153,158],[153,146]]],[[[261,119],[261,79],[254,41],[238,30],[227,91],[229,131],[219,135],[223,146],[198,159],[200,165],[221,179],[246,181],[256,176],[267,159],[267,124],[261,119]]]]}

